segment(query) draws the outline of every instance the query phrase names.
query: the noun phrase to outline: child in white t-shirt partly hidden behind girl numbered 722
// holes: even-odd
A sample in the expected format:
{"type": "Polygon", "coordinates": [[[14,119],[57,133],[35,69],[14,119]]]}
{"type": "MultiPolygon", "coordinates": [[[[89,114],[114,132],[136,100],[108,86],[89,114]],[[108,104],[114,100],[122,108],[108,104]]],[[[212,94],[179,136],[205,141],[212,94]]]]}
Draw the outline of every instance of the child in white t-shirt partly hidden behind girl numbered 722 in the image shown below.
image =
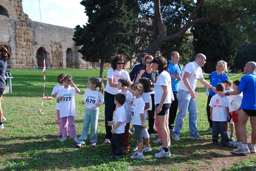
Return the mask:
{"type": "MultiPolygon", "coordinates": [[[[54,86],[54,88],[52,90],[52,97],[56,97],[57,94],[58,94],[58,90],[64,87],[63,83],[61,83],[61,80],[63,80],[65,76],[67,76],[67,74],[62,73],[62,74],[58,75],[58,83],[59,84],[54,86]]],[[[55,136],[60,137],[62,135],[62,129],[61,129],[61,118],[60,118],[59,103],[58,103],[57,100],[55,100],[55,103],[56,103],[55,109],[57,111],[57,123],[58,123],[58,126],[60,128],[59,132],[55,136]]],[[[69,126],[68,126],[68,132],[69,132],[69,126]]]]}

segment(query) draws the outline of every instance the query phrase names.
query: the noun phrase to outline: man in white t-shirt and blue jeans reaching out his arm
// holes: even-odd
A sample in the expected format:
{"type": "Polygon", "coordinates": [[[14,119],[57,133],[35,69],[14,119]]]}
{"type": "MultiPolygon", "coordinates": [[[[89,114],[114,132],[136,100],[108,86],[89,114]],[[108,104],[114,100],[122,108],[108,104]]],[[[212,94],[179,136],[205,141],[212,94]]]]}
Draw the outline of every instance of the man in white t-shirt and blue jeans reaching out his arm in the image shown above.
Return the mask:
{"type": "Polygon", "coordinates": [[[186,111],[189,110],[189,138],[204,140],[198,134],[197,128],[197,105],[195,87],[196,82],[199,81],[208,88],[211,88],[216,93],[216,88],[212,87],[206,80],[204,80],[202,68],[206,63],[206,56],[204,54],[197,54],[195,61],[188,63],[182,73],[180,80],[179,91],[177,93],[177,99],[179,100],[179,113],[177,114],[175,121],[175,129],[172,139],[175,141],[180,140],[180,131],[183,125],[184,118],[186,117],[186,111]]]}

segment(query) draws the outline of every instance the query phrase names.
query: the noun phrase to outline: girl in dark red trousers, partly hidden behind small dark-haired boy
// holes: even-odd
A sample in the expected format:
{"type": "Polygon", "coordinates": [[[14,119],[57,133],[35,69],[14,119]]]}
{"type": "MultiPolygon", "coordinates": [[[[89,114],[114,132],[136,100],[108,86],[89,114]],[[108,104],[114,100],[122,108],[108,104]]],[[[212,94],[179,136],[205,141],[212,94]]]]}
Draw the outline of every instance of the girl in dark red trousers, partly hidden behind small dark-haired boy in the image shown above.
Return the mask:
{"type": "Polygon", "coordinates": [[[120,78],[118,80],[118,89],[122,90],[122,94],[125,95],[125,111],[126,111],[126,125],[125,125],[125,133],[124,133],[124,151],[129,151],[130,150],[130,145],[129,145],[129,128],[130,128],[130,123],[131,123],[131,92],[128,91],[128,88],[130,87],[130,80],[127,78],[120,78]]]}

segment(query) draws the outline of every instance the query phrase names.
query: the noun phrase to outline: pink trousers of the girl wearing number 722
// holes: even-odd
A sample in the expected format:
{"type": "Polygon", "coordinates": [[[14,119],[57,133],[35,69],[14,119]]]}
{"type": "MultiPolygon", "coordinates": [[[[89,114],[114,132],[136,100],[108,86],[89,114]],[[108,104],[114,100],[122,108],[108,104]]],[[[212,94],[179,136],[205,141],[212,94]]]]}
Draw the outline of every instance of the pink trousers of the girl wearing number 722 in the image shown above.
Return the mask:
{"type": "Polygon", "coordinates": [[[68,136],[68,124],[70,125],[70,138],[76,138],[75,117],[61,117],[62,137],[68,136]]]}

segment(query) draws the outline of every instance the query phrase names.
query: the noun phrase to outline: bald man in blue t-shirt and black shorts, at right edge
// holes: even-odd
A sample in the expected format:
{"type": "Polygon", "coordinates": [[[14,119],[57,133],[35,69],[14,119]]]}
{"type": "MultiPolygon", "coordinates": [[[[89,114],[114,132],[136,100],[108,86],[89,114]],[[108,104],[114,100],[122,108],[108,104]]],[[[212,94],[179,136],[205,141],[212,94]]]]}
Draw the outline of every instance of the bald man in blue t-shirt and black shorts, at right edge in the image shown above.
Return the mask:
{"type": "Polygon", "coordinates": [[[245,64],[244,73],[247,75],[241,78],[238,88],[235,91],[220,93],[219,96],[224,97],[228,95],[241,94],[243,92],[242,103],[238,112],[239,129],[241,133],[242,145],[236,150],[236,154],[256,153],[256,63],[251,61],[245,64]],[[246,123],[250,117],[252,127],[251,144],[247,146],[247,129],[246,123]]]}

